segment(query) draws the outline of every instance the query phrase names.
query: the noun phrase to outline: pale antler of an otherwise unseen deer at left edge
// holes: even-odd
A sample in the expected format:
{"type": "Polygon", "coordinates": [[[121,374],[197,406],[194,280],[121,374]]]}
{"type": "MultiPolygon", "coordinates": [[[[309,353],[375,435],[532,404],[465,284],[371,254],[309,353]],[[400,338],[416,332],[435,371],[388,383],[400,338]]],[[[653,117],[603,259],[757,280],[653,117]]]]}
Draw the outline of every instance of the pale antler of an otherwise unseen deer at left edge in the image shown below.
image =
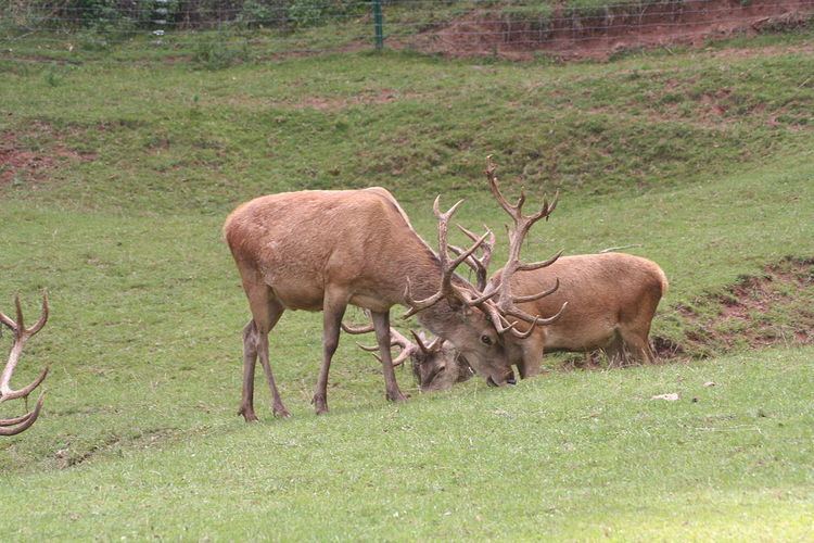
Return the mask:
{"type": "MultiPolygon", "coordinates": [[[[0,313],[0,323],[8,326],[14,336],[11,345],[11,352],[9,353],[9,361],[5,363],[3,372],[0,376],[0,403],[5,402],[7,400],[15,400],[20,397],[27,399],[28,394],[30,394],[37,387],[39,387],[39,384],[44,380],[46,376],[48,376],[48,367],[46,367],[46,369],[42,370],[39,377],[37,377],[34,381],[31,381],[30,384],[25,388],[13,390],[9,384],[11,381],[11,376],[14,374],[14,369],[17,367],[20,355],[23,352],[23,346],[25,346],[26,341],[28,341],[31,336],[40,331],[40,329],[46,326],[46,321],[48,320],[48,295],[44,293],[42,294],[42,315],[40,316],[39,320],[37,320],[37,323],[30,328],[26,328],[25,324],[23,323],[23,307],[20,304],[20,296],[14,298],[14,304],[16,305],[17,310],[16,321],[12,320],[3,313],[0,313]]],[[[43,400],[44,392],[41,392],[39,399],[37,400],[37,405],[29,413],[26,413],[21,417],[0,419],[0,435],[16,435],[17,433],[22,433],[30,428],[31,425],[37,421],[37,417],[39,417],[43,400]]]]}

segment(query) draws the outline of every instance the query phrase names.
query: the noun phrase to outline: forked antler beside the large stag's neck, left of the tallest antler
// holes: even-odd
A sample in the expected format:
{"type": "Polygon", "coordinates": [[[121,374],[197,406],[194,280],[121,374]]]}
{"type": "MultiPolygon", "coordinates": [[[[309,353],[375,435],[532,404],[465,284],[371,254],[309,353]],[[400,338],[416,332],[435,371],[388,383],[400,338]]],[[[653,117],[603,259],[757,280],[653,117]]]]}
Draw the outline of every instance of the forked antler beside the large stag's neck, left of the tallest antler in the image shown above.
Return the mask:
{"type": "MultiPolygon", "coordinates": [[[[441,288],[437,292],[423,300],[415,300],[410,292],[410,282],[407,281],[407,288],[405,289],[404,298],[405,303],[409,305],[409,310],[404,314],[403,318],[410,317],[416,313],[431,307],[438,303],[442,299],[455,301],[457,303],[463,303],[467,305],[479,305],[484,301],[492,298],[494,294],[489,293],[486,296],[473,296],[472,292],[461,289],[453,283],[453,277],[455,276],[455,268],[460,263],[466,262],[472,254],[480,248],[486,239],[492,236],[492,231],[487,230],[486,233],[474,240],[474,244],[466,251],[461,251],[458,257],[449,262],[449,244],[447,243],[447,230],[449,228],[449,219],[458,210],[458,206],[463,202],[459,200],[453,205],[446,213],[441,213],[440,210],[441,197],[438,195],[433,203],[433,212],[435,217],[438,219],[438,260],[441,261],[441,288]]],[[[478,293],[480,294],[480,292],[478,293]]]]}

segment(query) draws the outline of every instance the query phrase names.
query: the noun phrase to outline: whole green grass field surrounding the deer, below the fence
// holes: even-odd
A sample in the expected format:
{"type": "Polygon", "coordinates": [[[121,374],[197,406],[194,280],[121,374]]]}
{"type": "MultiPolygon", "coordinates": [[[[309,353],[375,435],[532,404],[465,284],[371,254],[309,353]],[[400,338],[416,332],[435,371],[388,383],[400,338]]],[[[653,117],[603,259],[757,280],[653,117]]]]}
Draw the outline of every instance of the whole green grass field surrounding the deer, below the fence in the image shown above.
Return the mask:
{"type": "Polygon", "coordinates": [[[814,538],[813,37],[572,65],[3,61],[0,311],[52,305],[15,376],[51,366],[46,408],[0,442],[4,538],[814,538]],[[317,418],[320,319],[288,313],[271,352],[294,418],[259,408],[258,381],[244,425],[226,214],[379,185],[431,242],[436,193],[501,232],[491,153],[508,191],[561,192],[529,258],[636,245],[664,268],[653,334],[684,356],[433,395],[398,371],[412,399],[393,406],[345,340],[317,418]],[[794,277],[721,317],[787,256],[794,277]],[[773,346],[722,339],[758,327],[773,346]]]}

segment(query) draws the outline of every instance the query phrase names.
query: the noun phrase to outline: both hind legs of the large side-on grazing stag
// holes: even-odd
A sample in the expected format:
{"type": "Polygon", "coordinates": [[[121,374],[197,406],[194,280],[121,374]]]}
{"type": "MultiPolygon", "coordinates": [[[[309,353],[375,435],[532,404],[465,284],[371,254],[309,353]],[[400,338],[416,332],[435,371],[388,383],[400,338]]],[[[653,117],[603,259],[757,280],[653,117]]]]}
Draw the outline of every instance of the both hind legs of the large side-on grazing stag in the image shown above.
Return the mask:
{"type": "Polygon", "coordinates": [[[249,305],[252,310],[252,321],[243,329],[243,401],[239,413],[247,422],[257,420],[254,414],[254,367],[257,357],[260,359],[266,381],[271,391],[272,412],[278,417],[291,414],[280,397],[271,364],[268,361],[268,334],[282,316],[284,307],[274,298],[271,289],[265,285],[246,290],[249,305]]]}

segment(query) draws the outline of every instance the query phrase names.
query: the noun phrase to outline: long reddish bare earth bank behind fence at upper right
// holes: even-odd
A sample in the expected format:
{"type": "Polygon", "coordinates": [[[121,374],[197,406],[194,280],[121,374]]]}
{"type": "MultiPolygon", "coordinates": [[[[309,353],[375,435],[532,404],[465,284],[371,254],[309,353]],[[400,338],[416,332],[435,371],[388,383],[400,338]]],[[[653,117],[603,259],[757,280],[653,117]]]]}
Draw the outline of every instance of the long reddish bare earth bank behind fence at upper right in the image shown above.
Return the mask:
{"type": "Polygon", "coordinates": [[[813,16],[814,0],[664,0],[611,3],[589,12],[560,5],[550,17],[534,22],[482,10],[389,45],[453,56],[522,60],[543,52],[560,59],[603,59],[627,50],[701,46],[736,34],[789,29],[810,24],[813,16]]]}

